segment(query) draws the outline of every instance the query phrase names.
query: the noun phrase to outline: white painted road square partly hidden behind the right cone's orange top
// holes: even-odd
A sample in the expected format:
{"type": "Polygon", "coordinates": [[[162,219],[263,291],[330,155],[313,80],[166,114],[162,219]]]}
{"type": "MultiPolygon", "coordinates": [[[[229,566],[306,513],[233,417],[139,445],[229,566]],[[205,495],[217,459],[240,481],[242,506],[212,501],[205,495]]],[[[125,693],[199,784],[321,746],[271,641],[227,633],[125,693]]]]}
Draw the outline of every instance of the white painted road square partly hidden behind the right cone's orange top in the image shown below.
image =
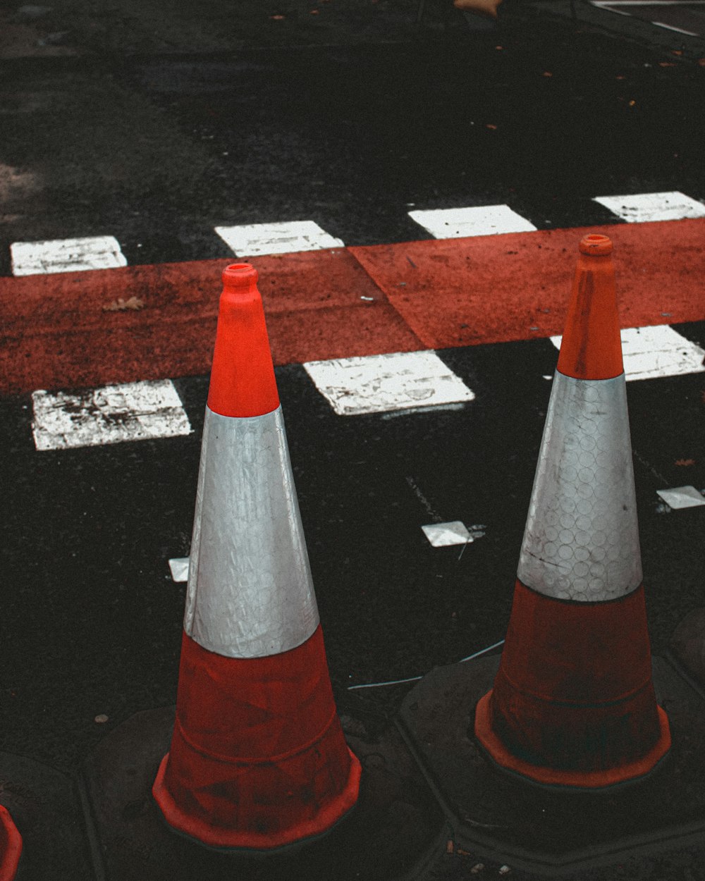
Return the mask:
{"type": "MultiPolygon", "coordinates": [[[[691,343],[668,324],[621,331],[624,372],[629,380],[649,380],[659,376],[697,374],[705,370],[705,350],[691,343]]],[[[551,337],[560,349],[562,337],[551,337]]]]}

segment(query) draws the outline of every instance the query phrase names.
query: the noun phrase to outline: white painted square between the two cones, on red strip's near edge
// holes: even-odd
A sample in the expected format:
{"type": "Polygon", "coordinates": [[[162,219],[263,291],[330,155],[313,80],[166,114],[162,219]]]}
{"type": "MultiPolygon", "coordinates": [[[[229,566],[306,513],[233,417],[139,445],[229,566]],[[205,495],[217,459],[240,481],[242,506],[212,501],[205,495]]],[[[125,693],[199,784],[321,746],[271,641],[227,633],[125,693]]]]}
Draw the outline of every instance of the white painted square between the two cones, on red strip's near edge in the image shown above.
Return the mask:
{"type": "Polygon", "coordinates": [[[475,398],[430,351],[308,361],[304,368],[338,416],[415,410],[475,398]]]}

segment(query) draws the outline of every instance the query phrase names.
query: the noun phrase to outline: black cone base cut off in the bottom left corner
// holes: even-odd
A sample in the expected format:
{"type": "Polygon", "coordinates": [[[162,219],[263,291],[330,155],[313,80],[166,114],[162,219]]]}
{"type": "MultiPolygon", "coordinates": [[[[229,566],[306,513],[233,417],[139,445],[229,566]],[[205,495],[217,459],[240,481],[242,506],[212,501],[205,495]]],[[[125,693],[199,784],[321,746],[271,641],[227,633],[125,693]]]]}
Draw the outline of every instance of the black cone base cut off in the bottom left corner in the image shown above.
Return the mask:
{"type": "Polygon", "coordinates": [[[0,752],[0,804],[22,836],[15,881],[93,878],[75,781],[41,762],[0,752]]]}

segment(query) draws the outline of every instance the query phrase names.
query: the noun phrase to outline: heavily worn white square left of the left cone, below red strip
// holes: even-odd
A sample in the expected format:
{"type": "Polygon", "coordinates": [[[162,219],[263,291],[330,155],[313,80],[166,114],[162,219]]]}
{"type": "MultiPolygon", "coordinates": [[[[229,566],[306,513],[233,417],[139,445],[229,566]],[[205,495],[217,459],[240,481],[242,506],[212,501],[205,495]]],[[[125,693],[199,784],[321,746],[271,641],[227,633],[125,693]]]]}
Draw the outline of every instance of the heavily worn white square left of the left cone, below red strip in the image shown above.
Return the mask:
{"type": "Polygon", "coordinates": [[[76,392],[35,391],[32,432],[38,450],[98,447],[191,432],[170,380],[76,392]]]}

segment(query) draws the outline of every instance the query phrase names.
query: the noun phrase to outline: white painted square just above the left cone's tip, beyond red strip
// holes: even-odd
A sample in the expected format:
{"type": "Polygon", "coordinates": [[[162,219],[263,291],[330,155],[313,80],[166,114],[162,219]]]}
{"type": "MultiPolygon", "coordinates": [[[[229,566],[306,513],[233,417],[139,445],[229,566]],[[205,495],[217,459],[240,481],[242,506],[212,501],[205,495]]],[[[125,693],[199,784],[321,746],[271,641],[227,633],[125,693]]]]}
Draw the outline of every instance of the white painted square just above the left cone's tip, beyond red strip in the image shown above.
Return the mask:
{"type": "Polygon", "coordinates": [[[289,223],[256,223],[245,226],[216,226],[216,233],[238,256],[289,254],[294,251],[318,251],[322,248],[345,248],[313,220],[289,223]]]}

